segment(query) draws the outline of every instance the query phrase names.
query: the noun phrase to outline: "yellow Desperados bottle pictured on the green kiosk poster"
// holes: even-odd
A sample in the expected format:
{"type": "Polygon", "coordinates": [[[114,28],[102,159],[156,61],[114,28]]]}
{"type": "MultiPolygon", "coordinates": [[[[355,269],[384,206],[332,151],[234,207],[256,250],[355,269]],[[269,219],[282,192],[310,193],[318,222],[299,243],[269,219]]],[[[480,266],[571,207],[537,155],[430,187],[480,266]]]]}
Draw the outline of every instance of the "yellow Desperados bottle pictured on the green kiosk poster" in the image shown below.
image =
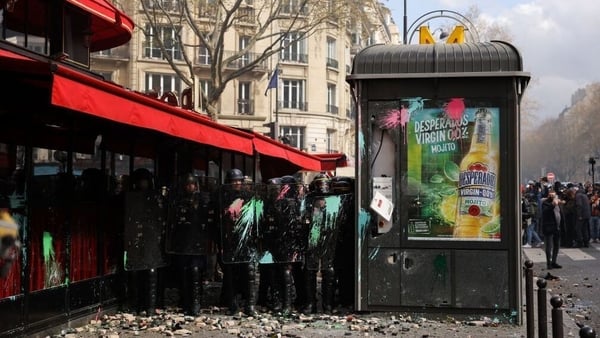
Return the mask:
{"type": "Polygon", "coordinates": [[[483,237],[481,227],[494,217],[498,166],[491,132],[490,111],[477,110],[471,147],[460,162],[455,238],[483,237]]]}

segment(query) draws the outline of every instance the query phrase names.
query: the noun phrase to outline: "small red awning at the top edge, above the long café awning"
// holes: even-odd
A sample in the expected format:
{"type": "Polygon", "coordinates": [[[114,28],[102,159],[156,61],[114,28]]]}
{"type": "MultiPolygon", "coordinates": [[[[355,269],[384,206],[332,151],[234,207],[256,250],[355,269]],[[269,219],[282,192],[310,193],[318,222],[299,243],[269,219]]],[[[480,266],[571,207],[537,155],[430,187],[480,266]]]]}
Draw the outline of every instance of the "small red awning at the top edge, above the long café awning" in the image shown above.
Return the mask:
{"type": "Polygon", "coordinates": [[[121,46],[131,39],[131,18],[106,0],[67,0],[92,15],[90,51],[121,46]]]}

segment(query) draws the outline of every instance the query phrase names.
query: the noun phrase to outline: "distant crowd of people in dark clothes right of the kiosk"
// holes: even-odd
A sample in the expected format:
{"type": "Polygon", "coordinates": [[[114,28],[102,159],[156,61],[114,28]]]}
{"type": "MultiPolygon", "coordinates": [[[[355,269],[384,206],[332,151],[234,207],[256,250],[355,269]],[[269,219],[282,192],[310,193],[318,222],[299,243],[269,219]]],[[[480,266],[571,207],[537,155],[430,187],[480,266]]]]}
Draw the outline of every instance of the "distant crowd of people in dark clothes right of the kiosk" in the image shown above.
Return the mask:
{"type": "Polygon", "coordinates": [[[529,181],[522,189],[523,247],[541,247],[548,269],[559,269],[559,249],[600,243],[600,185],[529,181]]]}

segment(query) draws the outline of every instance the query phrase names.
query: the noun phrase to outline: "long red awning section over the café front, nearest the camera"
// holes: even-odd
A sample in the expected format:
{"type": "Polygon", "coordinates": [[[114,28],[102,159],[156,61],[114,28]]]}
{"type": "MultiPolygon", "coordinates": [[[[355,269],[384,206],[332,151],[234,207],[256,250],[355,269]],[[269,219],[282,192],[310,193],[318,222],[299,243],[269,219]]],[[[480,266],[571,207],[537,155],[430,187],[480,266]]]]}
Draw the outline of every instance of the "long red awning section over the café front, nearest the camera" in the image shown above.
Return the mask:
{"type": "Polygon", "coordinates": [[[252,135],[179,107],[58,65],[51,103],[175,137],[254,154],[252,135]]]}

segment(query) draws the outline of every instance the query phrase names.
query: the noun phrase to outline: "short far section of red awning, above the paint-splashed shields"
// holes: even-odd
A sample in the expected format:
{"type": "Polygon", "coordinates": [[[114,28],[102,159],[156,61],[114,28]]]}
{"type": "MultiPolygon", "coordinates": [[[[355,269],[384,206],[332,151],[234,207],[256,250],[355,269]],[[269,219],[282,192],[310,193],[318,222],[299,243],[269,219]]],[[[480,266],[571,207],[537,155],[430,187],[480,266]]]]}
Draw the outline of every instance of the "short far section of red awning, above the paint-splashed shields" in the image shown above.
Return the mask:
{"type": "Polygon", "coordinates": [[[254,133],[254,149],[262,155],[281,158],[304,170],[320,171],[321,160],[296,148],[277,142],[267,136],[254,133]]]}

